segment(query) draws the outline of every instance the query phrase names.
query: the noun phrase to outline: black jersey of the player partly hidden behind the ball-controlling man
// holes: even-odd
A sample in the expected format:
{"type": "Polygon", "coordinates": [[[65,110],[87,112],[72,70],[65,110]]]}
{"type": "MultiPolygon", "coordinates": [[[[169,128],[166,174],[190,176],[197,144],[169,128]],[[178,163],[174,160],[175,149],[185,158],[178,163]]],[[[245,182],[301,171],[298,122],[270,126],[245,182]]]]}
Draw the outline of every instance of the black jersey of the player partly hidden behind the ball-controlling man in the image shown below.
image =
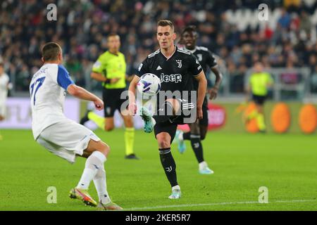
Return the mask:
{"type": "MultiPolygon", "coordinates": [[[[213,53],[209,49],[203,46],[196,46],[194,50],[185,49],[185,51],[190,51],[198,60],[203,68],[205,75],[207,72],[207,66],[213,68],[217,65],[216,58],[213,57],[213,53]]],[[[194,89],[198,89],[198,82],[196,79],[193,80],[194,89]]]]}

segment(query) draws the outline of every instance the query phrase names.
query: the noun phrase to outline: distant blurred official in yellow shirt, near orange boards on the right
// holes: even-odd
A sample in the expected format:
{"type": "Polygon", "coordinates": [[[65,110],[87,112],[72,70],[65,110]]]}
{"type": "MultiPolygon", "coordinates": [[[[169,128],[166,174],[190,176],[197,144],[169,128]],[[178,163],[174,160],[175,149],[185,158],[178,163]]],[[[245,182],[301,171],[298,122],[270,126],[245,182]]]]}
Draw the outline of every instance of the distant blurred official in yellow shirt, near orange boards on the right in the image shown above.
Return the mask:
{"type": "Polygon", "coordinates": [[[259,131],[266,132],[263,105],[268,96],[268,89],[273,86],[273,79],[268,72],[263,70],[261,62],[254,63],[253,70],[254,72],[249,77],[246,92],[247,100],[249,100],[251,94],[251,99],[256,104],[256,109],[247,116],[247,122],[255,118],[259,131]]]}

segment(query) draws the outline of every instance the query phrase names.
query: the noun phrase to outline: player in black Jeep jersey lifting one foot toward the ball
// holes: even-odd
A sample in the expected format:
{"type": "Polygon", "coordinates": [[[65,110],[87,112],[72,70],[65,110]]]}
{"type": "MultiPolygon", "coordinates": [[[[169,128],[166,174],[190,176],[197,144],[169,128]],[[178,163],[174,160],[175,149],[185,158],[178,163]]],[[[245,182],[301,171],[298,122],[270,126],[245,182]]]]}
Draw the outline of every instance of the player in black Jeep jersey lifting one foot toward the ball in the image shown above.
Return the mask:
{"type": "MultiPolygon", "coordinates": [[[[144,131],[151,132],[154,129],[155,137],[159,145],[159,155],[161,164],[166,173],[172,193],[168,198],[180,198],[180,186],[176,176],[176,165],[172,153],[170,152],[170,143],[172,143],[178,124],[184,124],[188,112],[194,112],[193,122],[203,117],[202,105],[206,95],[207,81],[204,71],[198,60],[189,53],[178,49],[174,45],[176,34],[173,23],[170,20],[160,20],[157,24],[156,37],[159,41],[160,49],[149,54],[139,66],[137,76],[132,79],[129,86],[129,110],[130,113],[140,113],[144,120],[144,131]],[[146,107],[137,108],[135,103],[135,90],[139,77],[146,73],[154,74],[161,78],[161,91],[157,95],[158,105],[156,115],[151,115],[146,107]],[[194,91],[192,77],[197,79],[198,89],[194,91]],[[179,98],[164,98],[161,104],[160,96],[165,95],[165,91],[182,94],[179,98]],[[195,93],[194,99],[190,94],[195,93]],[[192,101],[191,101],[192,100],[192,101]],[[173,112],[173,113],[169,113],[173,112]],[[153,116],[153,117],[152,117],[153,116]]],[[[189,115],[189,118],[192,115],[189,115]]],[[[191,118],[192,119],[192,118],[191,118]]],[[[187,120],[186,120],[187,121],[187,120]]],[[[188,123],[188,122],[185,122],[188,123]]]]}

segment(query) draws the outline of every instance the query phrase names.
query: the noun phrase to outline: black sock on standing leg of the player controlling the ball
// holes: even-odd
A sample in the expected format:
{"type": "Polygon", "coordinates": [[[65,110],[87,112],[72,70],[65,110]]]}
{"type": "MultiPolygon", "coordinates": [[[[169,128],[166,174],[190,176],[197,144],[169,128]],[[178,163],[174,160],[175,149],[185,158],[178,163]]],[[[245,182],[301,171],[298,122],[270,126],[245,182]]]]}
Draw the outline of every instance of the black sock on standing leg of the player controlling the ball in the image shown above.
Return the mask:
{"type": "Polygon", "coordinates": [[[160,159],[165,171],[165,174],[170,181],[170,186],[178,185],[177,176],[176,176],[176,164],[173,158],[170,148],[159,148],[160,159]]]}

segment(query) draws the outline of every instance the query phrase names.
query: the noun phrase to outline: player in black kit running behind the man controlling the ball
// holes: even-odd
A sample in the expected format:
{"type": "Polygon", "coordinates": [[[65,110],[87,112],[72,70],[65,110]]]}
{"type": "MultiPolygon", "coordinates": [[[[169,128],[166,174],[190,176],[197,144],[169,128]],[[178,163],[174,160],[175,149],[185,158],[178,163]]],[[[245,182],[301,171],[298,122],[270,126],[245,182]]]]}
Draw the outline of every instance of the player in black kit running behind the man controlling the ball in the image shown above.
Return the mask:
{"type": "MultiPolygon", "coordinates": [[[[202,66],[205,74],[207,71],[207,67],[211,69],[213,74],[216,76],[215,84],[211,89],[208,90],[210,96],[209,99],[215,99],[218,94],[218,89],[220,86],[220,82],[222,80],[223,75],[218,70],[218,65],[216,62],[216,58],[213,57],[213,54],[209,49],[203,46],[197,46],[197,31],[195,26],[188,26],[182,31],[182,36],[180,40],[180,44],[184,45],[184,49],[186,51],[190,51],[198,60],[200,65],[202,66]]],[[[194,89],[197,90],[198,83],[195,79],[193,79],[194,89]]],[[[176,132],[175,140],[178,141],[178,150],[180,153],[183,153],[186,149],[184,140],[190,140],[192,144],[192,149],[194,150],[194,154],[199,163],[199,173],[200,174],[213,174],[213,170],[211,170],[207,163],[204,160],[203,148],[201,145],[201,140],[206,138],[207,129],[208,129],[208,100],[204,98],[203,104],[203,118],[197,122],[189,124],[190,131],[187,133],[183,133],[178,130],[176,132]]]]}

